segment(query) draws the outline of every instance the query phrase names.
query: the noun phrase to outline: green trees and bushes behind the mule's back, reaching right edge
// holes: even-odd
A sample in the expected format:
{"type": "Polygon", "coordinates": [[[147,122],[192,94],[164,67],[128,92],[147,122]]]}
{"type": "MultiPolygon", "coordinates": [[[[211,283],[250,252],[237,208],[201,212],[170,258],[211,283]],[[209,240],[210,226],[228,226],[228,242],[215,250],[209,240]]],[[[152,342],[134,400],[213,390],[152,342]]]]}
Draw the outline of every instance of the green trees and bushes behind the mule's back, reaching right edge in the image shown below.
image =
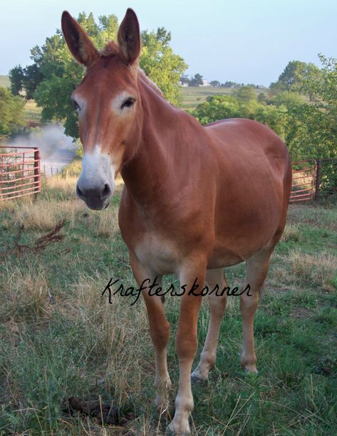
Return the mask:
{"type": "Polygon", "coordinates": [[[323,68],[290,62],[276,95],[242,86],[232,95],[214,95],[192,111],[202,124],[249,118],[267,124],[284,139],[294,160],[337,157],[337,61],[319,56],[323,68]],[[289,88],[289,90],[287,90],[289,88]]]}

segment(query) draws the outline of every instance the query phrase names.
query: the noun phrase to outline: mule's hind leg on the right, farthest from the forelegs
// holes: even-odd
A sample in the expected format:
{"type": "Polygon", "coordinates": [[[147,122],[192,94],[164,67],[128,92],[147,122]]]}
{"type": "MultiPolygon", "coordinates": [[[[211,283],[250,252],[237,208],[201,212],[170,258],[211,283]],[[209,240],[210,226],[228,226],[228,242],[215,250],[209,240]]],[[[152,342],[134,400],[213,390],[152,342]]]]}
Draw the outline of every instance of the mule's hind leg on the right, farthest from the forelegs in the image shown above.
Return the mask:
{"type": "Polygon", "coordinates": [[[276,243],[269,243],[265,248],[250,257],[247,262],[247,285],[249,292],[240,296],[240,310],[244,332],[244,346],[241,365],[249,373],[256,371],[256,354],[254,351],[254,314],[259,303],[259,291],[264,284],[269,267],[269,259],[276,243]]]}

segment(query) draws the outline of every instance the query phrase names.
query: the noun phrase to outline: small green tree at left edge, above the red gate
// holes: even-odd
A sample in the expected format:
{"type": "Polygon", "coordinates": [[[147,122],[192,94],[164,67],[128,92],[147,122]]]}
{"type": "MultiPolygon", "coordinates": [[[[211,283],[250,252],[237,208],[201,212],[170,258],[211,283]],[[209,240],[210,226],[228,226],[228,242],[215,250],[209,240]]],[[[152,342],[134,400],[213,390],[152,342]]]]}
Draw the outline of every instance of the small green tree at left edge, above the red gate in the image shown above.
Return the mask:
{"type": "Polygon", "coordinates": [[[0,86],[0,139],[11,136],[24,126],[24,99],[0,86]]]}

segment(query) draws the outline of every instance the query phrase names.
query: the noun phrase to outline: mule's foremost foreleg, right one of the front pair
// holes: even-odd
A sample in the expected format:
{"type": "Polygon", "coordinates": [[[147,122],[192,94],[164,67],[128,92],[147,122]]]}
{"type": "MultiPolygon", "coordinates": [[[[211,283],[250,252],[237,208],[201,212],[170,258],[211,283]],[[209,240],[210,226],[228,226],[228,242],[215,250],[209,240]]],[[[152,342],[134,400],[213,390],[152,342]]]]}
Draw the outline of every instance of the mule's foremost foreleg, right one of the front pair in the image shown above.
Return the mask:
{"type": "Polygon", "coordinates": [[[180,269],[180,285],[186,285],[185,294],[180,297],[180,316],[175,339],[175,349],[179,358],[179,388],[175,399],[175,417],[169,425],[172,433],[177,435],[190,433],[189,416],[193,409],[191,389],[191,369],[197,352],[197,321],[202,301],[206,262],[189,262],[180,269]],[[188,294],[197,279],[199,285],[195,294],[188,294]]]}

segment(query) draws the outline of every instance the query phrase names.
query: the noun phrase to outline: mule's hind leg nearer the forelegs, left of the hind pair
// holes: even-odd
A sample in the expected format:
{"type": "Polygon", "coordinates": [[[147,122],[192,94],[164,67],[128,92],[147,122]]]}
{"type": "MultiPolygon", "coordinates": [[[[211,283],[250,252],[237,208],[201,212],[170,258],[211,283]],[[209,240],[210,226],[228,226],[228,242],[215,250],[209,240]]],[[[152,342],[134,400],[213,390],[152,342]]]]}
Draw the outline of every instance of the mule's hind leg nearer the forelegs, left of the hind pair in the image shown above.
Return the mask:
{"type": "Polygon", "coordinates": [[[224,292],[223,296],[220,296],[220,292],[224,287],[227,287],[226,278],[222,268],[217,270],[207,270],[206,282],[209,290],[212,291],[214,287],[218,285],[218,296],[215,291],[209,295],[209,326],[207,331],[206,341],[204,342],[204,348],[200,355],[200,361],[192,372],[192,379],[207,380],[209,371],[213,368],[215,359],[217,357],[217,342],[219,339],[220,325],[224,314],[224,309],[227,303],[227,292],[224,292]]]}

